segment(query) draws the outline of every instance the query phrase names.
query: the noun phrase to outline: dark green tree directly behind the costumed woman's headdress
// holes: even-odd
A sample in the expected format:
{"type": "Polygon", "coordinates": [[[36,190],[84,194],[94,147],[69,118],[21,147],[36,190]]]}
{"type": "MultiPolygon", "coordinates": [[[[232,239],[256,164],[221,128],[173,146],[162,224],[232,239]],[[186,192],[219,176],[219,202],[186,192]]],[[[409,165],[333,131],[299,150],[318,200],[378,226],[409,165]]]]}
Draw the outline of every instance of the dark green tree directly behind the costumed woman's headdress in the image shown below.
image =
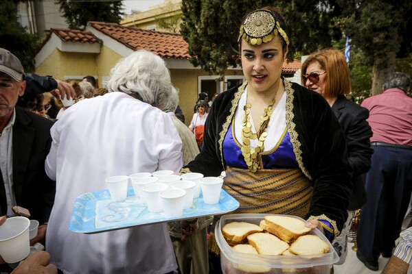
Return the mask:
{"type": "Polygon", "coordinates": [[[331,47],[332,38],[341,36],[339,29],[330,27],[337,8],[329,2],[183,0],[181,34],[189,43],[194,66],[223,75],[229,66],[239,64],[237,38],[244,14],[267,5],[279,7],[288,23],[291,60],[295,53],[331,47]]]}

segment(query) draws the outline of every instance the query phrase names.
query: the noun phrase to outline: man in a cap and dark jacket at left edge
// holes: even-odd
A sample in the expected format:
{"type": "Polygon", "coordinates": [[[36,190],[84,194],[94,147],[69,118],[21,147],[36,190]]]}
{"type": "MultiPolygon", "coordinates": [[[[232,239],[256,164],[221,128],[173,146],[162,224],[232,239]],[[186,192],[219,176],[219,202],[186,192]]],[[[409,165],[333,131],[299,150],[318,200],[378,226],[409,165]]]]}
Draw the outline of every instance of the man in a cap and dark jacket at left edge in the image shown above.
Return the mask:
{"type": "Polygon", "coordinates": [[[16,106],[25,86],[20,60],[0,48],[0,213],[14,216],[14,206],[29,210],[30,219],[43,224],[34,244],[45,240],[56,192],[56,182],[45,173],[53,122],[16,106]]]}

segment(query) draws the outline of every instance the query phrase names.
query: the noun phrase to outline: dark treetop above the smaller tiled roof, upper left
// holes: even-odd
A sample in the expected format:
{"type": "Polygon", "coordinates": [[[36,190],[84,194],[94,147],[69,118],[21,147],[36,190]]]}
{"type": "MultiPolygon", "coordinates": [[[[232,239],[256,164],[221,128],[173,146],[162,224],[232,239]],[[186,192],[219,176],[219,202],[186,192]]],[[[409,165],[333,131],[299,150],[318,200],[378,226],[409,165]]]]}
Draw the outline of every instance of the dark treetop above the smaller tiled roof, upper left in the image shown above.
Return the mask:
{"type": "Polygon", "coordinates": [[[71,29],[84,29],[88,21],[119,23],[124,16],[122,1],[58,0],[57,2],[71,29]]]}

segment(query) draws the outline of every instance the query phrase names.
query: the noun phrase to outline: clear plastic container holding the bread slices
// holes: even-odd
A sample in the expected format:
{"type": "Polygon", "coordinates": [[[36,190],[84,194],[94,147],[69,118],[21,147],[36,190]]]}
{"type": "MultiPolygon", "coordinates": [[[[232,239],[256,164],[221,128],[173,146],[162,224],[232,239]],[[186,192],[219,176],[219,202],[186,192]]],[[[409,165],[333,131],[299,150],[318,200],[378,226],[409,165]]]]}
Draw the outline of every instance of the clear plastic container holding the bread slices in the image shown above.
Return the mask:
{"type": "MultiPolygon", "coordinates": [[[[264,216],[276,214],[227,214],[216,223],[215,236],[220,248],[220,264],[224,274],[245,274],[245,273],[316,273],[329,274],[332,265],[339,261],[339,256],[330,244],[329,240],[318,230],[312,229],[310,234],[321,237],[328,242],[329,252],[310,256],[268,256],[240,253],[233,251],[222,235],[222,227],[231,222],[247,222],[259,225],[264,216]]],[[[286,215],[282,215],[286,216],[286,215]]],[[[297,216],[293,218],[305,221],[297,216]]]]}

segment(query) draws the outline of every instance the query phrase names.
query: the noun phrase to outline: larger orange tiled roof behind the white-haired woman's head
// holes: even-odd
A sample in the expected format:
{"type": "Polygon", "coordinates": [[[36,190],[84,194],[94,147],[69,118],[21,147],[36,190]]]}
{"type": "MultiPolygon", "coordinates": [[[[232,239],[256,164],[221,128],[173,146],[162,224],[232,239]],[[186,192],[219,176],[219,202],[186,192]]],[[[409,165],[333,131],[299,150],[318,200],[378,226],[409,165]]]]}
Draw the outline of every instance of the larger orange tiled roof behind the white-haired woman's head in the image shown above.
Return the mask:
{"type": "Polygon", "coordinates": [[[117,23],[89,22],[89,25],[134,51],[146,49],[161,58],[190,58],[189,45],[180,34],[124,27],[117,23]]]}

